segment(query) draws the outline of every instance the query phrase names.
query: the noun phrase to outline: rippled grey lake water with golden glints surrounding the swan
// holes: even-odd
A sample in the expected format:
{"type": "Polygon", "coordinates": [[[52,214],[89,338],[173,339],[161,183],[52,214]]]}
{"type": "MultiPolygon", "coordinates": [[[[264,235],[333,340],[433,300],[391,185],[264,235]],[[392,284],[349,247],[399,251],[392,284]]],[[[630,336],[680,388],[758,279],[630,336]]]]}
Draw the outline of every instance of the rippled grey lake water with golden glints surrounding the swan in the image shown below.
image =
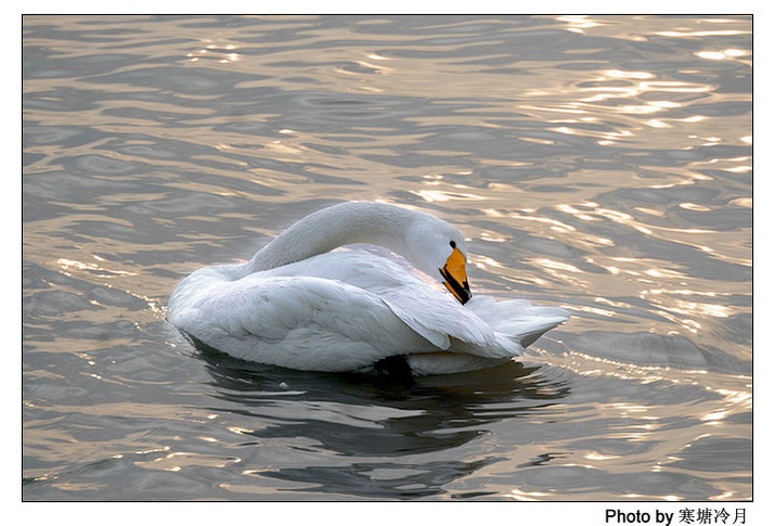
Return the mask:
{"type": "Polygon", "coordinates": [[[751,61],[744,16],[26,16],[24,499],[750,499],[751,61]],[[572,319],[411,383],[165,321],[348,200],[572,319]]]}

